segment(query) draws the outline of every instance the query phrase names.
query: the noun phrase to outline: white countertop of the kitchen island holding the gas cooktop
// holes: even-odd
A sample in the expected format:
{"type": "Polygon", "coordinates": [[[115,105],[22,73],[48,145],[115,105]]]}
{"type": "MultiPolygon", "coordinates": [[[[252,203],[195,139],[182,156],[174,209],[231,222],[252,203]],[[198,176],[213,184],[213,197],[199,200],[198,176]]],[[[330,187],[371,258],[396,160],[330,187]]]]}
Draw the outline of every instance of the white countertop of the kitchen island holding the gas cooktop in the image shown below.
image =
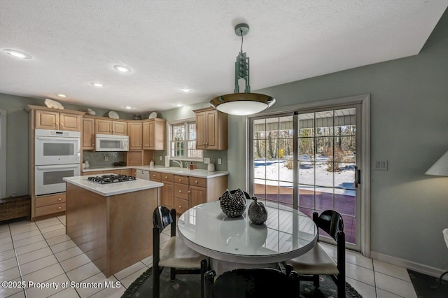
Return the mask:
{"type": "MultiPolygon", "coordinates": [[[[90,176],[97,176],[97,175],[90,175],[90,176]]],[[[104,197],[109,197],[116,194],[125,194],[127,192],[137,192],[139,190],[149,190],[151,188],[163,186],[163,183],[139,178],[133,181],[126,181],[120,183],[98,184],[87,180],[87,178],[90,176],[66,177],[64,178],[64,181],[66,181],[66,183],[71,183],[73,185],[82,187],[85,190],[90,190],[91,192],[101,194],[104,197]]]]}

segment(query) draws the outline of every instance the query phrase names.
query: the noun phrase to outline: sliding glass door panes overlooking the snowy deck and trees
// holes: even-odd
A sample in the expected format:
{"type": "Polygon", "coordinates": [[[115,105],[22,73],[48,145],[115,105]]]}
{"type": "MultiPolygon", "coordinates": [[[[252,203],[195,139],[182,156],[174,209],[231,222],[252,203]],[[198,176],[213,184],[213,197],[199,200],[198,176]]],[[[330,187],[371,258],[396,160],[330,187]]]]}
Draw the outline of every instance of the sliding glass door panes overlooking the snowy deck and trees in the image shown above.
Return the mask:
{"type": "Polygon", "coordinates": [[[347,246],[359,250],[360,106],[250,118],[251,192],[312,217],[342,214],[347,246]]]}

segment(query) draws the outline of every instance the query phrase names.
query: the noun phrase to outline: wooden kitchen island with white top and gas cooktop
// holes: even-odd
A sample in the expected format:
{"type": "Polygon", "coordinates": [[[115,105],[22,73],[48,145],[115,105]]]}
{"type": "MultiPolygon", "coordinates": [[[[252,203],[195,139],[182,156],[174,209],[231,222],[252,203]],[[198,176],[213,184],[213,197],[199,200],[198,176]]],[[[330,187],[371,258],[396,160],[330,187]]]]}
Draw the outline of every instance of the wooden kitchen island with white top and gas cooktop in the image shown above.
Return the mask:
{"type": "Polygon", "coordinates": [[[163,183],[96,184],[66,177],[66,234],[109,277],[153,254],[153,211],[163,183]]]}

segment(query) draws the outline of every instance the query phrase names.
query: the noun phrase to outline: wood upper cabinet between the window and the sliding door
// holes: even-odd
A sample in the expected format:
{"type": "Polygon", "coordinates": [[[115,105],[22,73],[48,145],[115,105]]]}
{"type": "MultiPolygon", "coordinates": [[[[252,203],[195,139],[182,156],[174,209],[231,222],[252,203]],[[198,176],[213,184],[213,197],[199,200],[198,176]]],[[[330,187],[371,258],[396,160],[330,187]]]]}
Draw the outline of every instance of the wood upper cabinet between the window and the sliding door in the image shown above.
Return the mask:
{"type": "Polygon", "coordinates": [[[228,115],[215,108],[202,108],[196,113],[196,149],[228,149],[228,115]]]}

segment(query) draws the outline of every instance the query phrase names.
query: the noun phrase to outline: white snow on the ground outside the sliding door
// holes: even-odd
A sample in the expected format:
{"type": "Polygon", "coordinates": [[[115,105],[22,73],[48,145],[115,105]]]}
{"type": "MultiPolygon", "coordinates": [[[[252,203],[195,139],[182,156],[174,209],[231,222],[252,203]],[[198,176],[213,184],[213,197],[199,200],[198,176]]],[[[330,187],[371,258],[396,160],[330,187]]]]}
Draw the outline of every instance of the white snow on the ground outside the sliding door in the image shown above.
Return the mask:
{"type": "MultiPolygon", "coordinates": [[[[284,160],[274,159],[255,160],[254,182],[263,185],[293,187],[293,170],[286,167],[287,163],[284,160]]],[[[316,185],[316,191],[332,192],[331,189],[323,187],[335,187],[335,194],[356,195],[353,185],[355,180],[354,164],[341,164],[340,166],[342,171],[329,172],[327,171],[328,164],[325,162],[316,162],[316,170],[311,162],[302,162],[298,177],[300,189],[313,190],[312,185],[316,185]]]]}

